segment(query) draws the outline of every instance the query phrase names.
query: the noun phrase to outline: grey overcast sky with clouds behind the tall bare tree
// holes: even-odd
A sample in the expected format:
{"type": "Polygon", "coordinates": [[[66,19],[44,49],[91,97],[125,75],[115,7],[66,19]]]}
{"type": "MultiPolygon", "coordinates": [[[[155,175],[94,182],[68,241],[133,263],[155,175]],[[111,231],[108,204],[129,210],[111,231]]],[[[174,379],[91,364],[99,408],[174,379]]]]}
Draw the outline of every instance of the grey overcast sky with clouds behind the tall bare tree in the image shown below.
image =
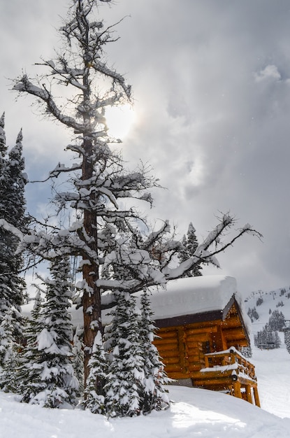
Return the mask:
{"type": "MultiPolygon", "coordinates": [[[[23,127],[29,179],[64,160],[67,133],[17,99],[9,78],[33,76],[52,59],[66,0],[0,2],[0,112],[12,146],[23,127]]],[[[153,218],[198,239],[230,211],[263,242],[244,236],[219,257],[244,295],[290,285],[289,0],[119,0],[99,13],[117,27],[109,64],[133,87],[135,122],[123,155],[152,164],[166,190],[154,192],[153,218]]],[[[49,190],[28,188],[29,211],[49,190]]]]}

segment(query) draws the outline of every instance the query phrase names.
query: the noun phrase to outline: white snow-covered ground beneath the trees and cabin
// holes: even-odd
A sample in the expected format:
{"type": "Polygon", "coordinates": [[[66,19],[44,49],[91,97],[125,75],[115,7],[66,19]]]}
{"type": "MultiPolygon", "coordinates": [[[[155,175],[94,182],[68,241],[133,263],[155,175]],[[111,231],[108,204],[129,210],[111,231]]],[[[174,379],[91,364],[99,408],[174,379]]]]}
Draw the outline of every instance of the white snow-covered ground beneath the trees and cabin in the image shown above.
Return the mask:
{"type": "Polygon", "coordinates": [[[175,386],[167,411],[108,420],[78,409],[20,404],[0,392],[0,438],[289,438],[290,355],[285,348],[253,353],[262,409],[229,395],[175,386]]]}

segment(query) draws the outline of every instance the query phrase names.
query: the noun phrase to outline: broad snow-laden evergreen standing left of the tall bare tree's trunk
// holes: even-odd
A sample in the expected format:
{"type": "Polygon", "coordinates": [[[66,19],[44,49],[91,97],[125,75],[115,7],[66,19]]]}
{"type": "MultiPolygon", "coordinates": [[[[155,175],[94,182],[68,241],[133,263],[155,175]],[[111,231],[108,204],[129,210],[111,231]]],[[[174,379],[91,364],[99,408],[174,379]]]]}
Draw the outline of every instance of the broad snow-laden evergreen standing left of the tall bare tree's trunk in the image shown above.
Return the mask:
{"type": "Polygon", "coordinates": [[[43,407],[75,405],[78,381],[72,365],[73,338],[71,291],[68,283],[68,258],[56,257],[50,265],[51,278],[45,279],[47,296],[39,316],[41,332],[37,335],[37,351],[27,365],[30,382],[22,397],[24,402],[43,407]]]}

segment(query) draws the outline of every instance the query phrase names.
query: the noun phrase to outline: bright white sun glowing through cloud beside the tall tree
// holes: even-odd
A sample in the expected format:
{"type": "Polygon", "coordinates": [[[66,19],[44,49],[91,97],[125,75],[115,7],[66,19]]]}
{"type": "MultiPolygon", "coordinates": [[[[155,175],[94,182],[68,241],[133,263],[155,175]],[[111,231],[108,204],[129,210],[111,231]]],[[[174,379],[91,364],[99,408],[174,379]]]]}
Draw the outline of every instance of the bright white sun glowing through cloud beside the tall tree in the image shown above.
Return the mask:
{"type": "Polygon", "coordinates": [[[124,139],[136,120],[136,113],[129,104],[110,106],[106,108],[106,120],[110,136],[124,139]]]}

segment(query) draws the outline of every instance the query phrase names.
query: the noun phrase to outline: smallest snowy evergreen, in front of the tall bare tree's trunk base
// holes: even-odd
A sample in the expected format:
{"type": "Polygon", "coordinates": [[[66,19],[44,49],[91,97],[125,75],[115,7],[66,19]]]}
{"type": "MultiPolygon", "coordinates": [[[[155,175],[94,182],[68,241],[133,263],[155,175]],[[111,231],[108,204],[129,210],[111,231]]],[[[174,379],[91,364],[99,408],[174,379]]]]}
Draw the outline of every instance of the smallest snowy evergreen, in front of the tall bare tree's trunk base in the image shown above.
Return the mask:
{"type": "Polygon", "coordinates": [[[93,414],[106,414],[104,386],[108,378],[108,360],[103,349],[103,339],[99,331],[94,338],[92,355],[89,360],[89,376],[85,388],[85,408],[93,414]]]}

